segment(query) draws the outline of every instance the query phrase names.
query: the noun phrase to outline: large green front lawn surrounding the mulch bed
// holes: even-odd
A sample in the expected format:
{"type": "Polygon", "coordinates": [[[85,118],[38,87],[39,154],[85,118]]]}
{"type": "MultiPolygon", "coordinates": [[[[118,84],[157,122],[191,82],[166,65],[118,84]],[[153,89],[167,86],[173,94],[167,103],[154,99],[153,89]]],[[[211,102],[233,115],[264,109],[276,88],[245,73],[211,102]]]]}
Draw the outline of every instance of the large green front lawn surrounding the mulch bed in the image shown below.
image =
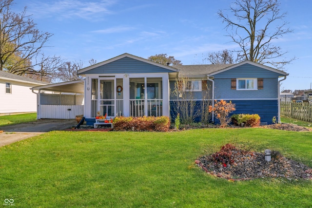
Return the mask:
{"type": "Polygon", "coordinates": [[[312,167],[312,132],[49,132],[0,148],[0,201],[16,207],[312,207],[312,181],[229,182],[195,159],[226,143],[312,167]]]}

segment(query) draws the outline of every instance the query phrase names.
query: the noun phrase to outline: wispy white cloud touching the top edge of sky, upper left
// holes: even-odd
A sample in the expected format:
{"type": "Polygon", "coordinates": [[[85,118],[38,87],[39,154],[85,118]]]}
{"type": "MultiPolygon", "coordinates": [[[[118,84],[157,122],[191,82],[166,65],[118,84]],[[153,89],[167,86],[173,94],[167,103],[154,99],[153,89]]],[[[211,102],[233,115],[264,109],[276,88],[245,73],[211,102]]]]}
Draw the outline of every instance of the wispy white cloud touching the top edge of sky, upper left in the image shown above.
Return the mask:
{"type": "Polygon", "coordinates": [[[37,1],[28,7],[29,12],[40,17],[58,17],[58,19],[96,19],[95,15],[103,16],[113,14],[109,7],[116,0],[82,1],[58,0],[52,2],[37,1]]]}

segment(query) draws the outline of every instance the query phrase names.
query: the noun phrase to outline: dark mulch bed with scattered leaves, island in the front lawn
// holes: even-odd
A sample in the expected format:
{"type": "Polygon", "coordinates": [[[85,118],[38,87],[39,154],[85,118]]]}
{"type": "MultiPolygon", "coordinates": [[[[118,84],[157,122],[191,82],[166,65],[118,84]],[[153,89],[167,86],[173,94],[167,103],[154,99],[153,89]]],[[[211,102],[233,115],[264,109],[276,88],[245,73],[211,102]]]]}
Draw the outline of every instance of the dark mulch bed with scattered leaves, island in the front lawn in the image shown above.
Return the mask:
{"type": "MultiPolygon", "coordinates": [[[[217,152],[216,152],[217,153],[217,152]]],[[[312,169],[272,151],[272,160],[267,162],[265,154],[234,149],[229,153],[232,163],[216,162],[215,154],[199,157],[195,163],[206,172],[230,180],[250,180],[265,177],[312,179],[312,169]]]]}

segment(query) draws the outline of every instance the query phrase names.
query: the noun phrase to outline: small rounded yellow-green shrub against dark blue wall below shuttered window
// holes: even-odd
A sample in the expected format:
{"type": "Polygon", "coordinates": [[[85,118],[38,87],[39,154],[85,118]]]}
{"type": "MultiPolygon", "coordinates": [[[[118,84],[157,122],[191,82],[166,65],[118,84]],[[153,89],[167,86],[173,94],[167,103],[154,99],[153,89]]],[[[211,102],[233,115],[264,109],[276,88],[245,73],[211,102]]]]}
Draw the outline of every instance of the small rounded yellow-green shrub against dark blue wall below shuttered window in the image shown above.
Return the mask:
{"type": "Polygon", "coordinates": [[[258,114],[234,114],[231,119],[236,126],[257,127],[260,125],[260,116],[258,114]]]}

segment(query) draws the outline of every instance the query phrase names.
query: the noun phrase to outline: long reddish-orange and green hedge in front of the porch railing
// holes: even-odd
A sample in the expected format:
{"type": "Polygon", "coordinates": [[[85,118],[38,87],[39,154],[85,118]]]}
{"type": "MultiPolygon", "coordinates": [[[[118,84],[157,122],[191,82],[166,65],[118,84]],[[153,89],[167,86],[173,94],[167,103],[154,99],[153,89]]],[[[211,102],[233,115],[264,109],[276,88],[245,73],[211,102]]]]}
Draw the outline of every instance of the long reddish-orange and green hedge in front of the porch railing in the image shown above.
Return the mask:
{"type": "Polygon", "coordinates": [[[170,126],[170,119],[166,116],[143,116],[143,117],[116,117],[114,119],[115,131],[136,131],[136,132],[167,132],[170,126]]]}

